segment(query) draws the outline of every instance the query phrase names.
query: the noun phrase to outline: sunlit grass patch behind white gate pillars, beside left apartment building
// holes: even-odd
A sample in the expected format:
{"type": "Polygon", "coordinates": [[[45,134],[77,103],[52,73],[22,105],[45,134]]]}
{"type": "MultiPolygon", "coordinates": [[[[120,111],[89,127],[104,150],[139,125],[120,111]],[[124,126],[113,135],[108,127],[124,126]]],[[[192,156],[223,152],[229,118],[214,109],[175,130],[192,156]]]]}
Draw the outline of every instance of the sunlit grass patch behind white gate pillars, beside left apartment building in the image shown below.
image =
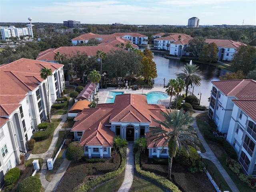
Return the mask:
{"type": "Polygon", "coordinates": [[[41,154],[48,150],[48,148],[52,142],[54,130],[60,124],[61,120],[62,119],[52,119],[52,122],[54,123],[54,129],[52,131],[51,136],[46,140],[36,142],[35,146],[34,146],[34,150],[32,150],[32,154],[41,154]]]}

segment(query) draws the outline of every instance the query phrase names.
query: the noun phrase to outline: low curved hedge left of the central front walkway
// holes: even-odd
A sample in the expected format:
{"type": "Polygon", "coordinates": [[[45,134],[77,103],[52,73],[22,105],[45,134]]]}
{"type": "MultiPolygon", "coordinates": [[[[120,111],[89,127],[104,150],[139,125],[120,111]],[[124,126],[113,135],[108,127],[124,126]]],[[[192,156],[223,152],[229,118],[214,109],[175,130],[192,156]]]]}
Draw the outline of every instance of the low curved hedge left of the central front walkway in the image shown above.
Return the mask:
{"type": "Polygon", "coordinates": [[[125,169],[126,156],[125,156],[125,153],[124,153],[122,148],[119,150],[119,152],[120,152],[120,155],[121,155],[121,164],[120,164],[118,170],[113,171],[113,172],[108,172],[104,176],[99,176],[99,177],[97,177],[93,180],[90,180],[90,181],[86,182],[85,184],[80,186],[76,190],[76,192],[87,192],[91,188],[97,186],[98,184],[101,184],[101,183],[106,182],[110,179],[116,178],[118,175],[120,175],[125,169]]]}

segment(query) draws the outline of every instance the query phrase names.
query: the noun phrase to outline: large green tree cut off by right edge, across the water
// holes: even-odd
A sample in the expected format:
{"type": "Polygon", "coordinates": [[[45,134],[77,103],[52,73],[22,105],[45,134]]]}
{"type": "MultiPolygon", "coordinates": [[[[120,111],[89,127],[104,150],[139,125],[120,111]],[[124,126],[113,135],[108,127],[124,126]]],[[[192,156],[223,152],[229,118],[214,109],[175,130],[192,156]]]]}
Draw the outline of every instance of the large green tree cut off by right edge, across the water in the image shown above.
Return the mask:
{"type": "Polygon", "coordinates": [[[254,46],[241,45],[236,49],[232,59],[235,70],[242,70],[244,74],[248,74],[250,70],[256,68],[256,49],[254,46]]]}

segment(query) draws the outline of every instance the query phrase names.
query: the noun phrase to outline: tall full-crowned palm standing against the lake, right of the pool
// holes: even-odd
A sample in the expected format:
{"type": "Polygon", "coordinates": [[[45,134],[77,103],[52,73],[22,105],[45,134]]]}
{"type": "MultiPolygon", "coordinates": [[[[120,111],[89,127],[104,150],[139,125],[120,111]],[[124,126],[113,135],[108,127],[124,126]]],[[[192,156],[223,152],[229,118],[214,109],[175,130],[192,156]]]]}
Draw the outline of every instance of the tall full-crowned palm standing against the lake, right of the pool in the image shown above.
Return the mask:
{"type": "Polygon", "coordinates": [[[186,64],[183,67],[183,73],[178,73],[176,76],[181,78],[186,83],[186,96],[188,95],[188,87],[191,85],[200,86],[202,80],[197,74],[200,72],[199,66],[194,64],[186,64]]]}

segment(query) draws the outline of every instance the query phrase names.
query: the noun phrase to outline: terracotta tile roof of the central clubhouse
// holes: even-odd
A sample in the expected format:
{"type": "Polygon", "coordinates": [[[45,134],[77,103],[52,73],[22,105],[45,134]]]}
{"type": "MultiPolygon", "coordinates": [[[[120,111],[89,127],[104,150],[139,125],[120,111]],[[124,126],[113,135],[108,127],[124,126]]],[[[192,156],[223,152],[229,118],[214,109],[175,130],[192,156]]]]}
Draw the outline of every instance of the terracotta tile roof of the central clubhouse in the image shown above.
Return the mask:
{"type": "Polygon", "coordinates": [[[145,122],[156,126],[154,119],[163,120],[161,112],[165,111],[163,105],[148,104],[145,95],[117,95],[114,103],[98,104],[96,108],[86,108],[78,113],[71,131],[84,131],[81,146],[112,146],[111,122],[145,122]]]}

